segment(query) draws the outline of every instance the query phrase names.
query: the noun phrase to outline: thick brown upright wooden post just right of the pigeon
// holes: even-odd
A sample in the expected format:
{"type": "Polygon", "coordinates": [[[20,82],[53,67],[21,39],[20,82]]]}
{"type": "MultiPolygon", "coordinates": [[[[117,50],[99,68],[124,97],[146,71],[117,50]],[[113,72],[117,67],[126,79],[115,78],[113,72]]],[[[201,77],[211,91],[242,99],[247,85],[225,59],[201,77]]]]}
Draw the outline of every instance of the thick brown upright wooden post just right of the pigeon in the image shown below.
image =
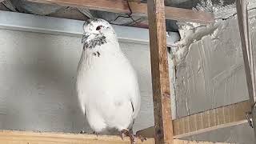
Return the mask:
{"type": "Polygon", "coordinates": [[[164,0],[148,0],[150,59],[156,144],[173,144],[164,0]]]}

